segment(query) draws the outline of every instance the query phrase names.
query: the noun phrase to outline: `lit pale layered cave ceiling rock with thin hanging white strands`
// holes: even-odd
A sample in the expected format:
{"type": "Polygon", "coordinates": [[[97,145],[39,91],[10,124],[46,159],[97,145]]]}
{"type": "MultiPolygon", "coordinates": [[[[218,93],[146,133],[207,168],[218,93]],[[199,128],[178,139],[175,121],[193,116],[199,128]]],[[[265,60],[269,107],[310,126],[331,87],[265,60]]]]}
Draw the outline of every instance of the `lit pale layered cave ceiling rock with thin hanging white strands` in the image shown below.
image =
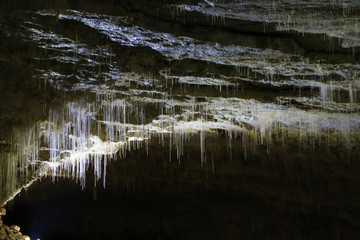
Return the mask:
{"type": "MultiPolygon", "coordinates": [[[[276,23],[279,30],[322,33],[338,37],[343,47],[357,46],[358,21],[352,9],[358,3],[321,2],[328,7],[321,10],[316,1],[201,1],[196,6],[169,8],[174,14],[195,11],[214,16],[214,20],[276,23]],[[339,7],[341,16],[339,11],[326,16],[327,10],[339,7]]],[[[31,184],[44,174],[54,179],[74,178],[85,186],[90,166],[95,182],[102,178],[105,186],[107,161],[123,158],[134,149],[147,149],[154,138],[169,149],[169,161],[175,160],[171,152],[181,161],[184,142],[197,138],[199,165],[204,162],[209,134],[225,133],[227,148],[236,147],[231,140],[241,138],[244,159],[259,146],[270,153],[273,144],[296,143],[306,151],[315,151],[320,144],[351,151],[359,143],[360,66],[356,63],[155,32],[132,24],[125,16],[75,10],[64,10],[58,16],[51,11],[26,14],[29,19],[22,21],[21,36],[50,52],[34,61],[73,66],[68,71],[51,68],[53,64],[50,69],[36,69],[36,88],[83,95],[71,97],[59,108],[44,106],[46,121],[13,130],[10,149],[0,154],[6,175],[0,185],[5,186],[2,195],[8,199],[21,190],[19,179],[31,184]],[[120,53],[111,46],[93,46],[77,35],[72,39],[37,20],[54,20],[55,16],[57,21],[96,31],[115,46],[150,49],[169,62],[169,67],[156,73],[124,71],[119,63],[122,56],[116,58],[120,53]],[[172,69],[170,63],[181,66],[184,61],[209,66],[204,70],[208,72],[191,71],[191,64],[180,73],[172,69]],[[232,74],[213,71],[225,67],[232,74]],[[247,95],[251,91],[257,92],[247,95]]]]}

